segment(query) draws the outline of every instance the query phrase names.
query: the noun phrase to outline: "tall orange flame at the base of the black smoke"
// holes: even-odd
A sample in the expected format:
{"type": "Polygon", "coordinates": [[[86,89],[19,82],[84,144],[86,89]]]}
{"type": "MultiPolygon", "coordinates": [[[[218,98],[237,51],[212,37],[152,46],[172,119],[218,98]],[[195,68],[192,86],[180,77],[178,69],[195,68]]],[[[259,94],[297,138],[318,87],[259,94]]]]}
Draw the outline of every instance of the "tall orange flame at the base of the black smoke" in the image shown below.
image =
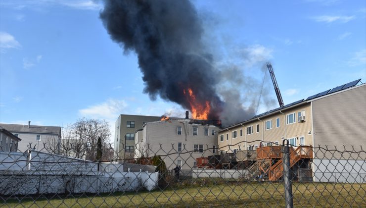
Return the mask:
{"type": "Polygon", "coordinates": [[[192,118],[207,119],[208,114],[210,113],[210,110],[211,110],[210,102],[206,101],[205,104],[198,103],[196,101],[196,96],[194,95],[192,89],[190,89],[190,88],[188,88],[188,95],[186,95],[185,89],[183,89],[183,94],[188,99],[192,118]]]}

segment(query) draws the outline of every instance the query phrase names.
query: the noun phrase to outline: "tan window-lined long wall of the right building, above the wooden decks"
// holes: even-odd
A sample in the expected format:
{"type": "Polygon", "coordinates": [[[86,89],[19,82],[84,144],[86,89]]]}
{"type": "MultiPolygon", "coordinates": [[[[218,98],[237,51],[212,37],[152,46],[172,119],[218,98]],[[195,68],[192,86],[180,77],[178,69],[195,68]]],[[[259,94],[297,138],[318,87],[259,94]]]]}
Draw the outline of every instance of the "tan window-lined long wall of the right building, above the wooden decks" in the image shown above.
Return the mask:
{"type": "Polygon", "coordinates": [[[245,124],[232,127],[218,133],[218,143],[220,150],[232,152],[233,149],[247,150],[249,146],[259,147],[260,142],[265,145],[266,142],[278,142],[282,144],[283,139],[296,138],[296,146],[300,145],[300,137],[304,137],[304,145],[312,145],[312,114],[311,104],[305,103],[302,105],[284,109],[283,111],[268,115],[245,124]],[[305,122],[298,122],[297,113],[305,110],[305,122]],[[286,115],[295,112],[296,122],[286,124],[286,115]],[[276,119],[279,118],[279,127],[276,127],[276,119]],[[266,130],[266,121],[272,120],[272,129],[266,130]],[[257,124],[259,132],[257,132],[257,124]],[[252,126],[252,134],[247,134],[247,127],[252,126]],[[240,136],[242,129],[242,136],[240,136]],[[232,138],[232,132],[237,131],[237,138],[232,138]],[[310,134],[309,134],[310,132],[310,134]],[[229,138],[227,139],[227,134],[229,138]],[[220,141],[220,135],[224,135],[224,141],[220,141]]]}

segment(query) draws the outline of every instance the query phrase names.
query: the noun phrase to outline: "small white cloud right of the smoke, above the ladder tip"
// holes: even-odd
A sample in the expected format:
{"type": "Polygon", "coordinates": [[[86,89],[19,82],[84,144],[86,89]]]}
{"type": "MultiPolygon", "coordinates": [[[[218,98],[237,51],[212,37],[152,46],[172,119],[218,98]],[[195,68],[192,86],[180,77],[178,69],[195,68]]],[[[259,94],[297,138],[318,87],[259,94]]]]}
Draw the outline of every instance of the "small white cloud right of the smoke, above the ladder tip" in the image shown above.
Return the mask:
{"type": "Polygon", "coordinates": [[[272,49],[266,48],[262,45],[253,45],[241,50],[245,57],[245,64],[251,67],[257,63],[268,61],[272,58],[272,49]]]}

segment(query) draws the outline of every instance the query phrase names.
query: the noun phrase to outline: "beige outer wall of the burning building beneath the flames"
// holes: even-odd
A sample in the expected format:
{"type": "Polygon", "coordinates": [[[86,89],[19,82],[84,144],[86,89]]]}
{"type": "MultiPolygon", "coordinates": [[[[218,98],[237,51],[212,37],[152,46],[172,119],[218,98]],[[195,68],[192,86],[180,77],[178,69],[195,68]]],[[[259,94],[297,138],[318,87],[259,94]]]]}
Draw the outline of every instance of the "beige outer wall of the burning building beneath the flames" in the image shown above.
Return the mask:
{"type": "Polygon", "coordinates": [[[144,152],[148,157],[160,155],[168,169],[173,169],[178,160],[182,161],[182,169],[190,169],[197,157],[213,155],[213,146],[217,145],[216,126],[188,124],[189,120],[169,120],[147,123],[143,128],[142,149],[137,146],[138,152],[144,152]],[[197,135],[193,136],[193,126],[198,127],[197,135]],[[177,127],[182,127],[182,135],[177,134],[177,127]],[[204,135],[204,128],[208,128],[208,135],[204,135]],[[178,143],[182,143],[182,152],[178,152],[178,143]],[[194,145],[203,145],[203,153],[193,152],[194,145]],[[161,146],[160,146],[161,145],[161,146]]]}

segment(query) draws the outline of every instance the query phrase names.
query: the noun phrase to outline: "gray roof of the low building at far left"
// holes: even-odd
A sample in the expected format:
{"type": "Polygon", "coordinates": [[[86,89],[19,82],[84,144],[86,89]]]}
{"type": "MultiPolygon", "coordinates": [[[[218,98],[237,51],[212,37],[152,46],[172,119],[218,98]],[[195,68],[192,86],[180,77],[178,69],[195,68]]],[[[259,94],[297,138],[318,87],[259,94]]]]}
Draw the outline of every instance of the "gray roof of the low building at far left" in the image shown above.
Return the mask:
{"type": "Polygon", "coordinates": [[[59,126],[36,126],[30,125],[20,125],[20,124],[7,124],[0,123],[0,126],[9,132],[24,132],[24,133],[46,133],[46,134],[60,134],[61,127],[59,126]]]}

